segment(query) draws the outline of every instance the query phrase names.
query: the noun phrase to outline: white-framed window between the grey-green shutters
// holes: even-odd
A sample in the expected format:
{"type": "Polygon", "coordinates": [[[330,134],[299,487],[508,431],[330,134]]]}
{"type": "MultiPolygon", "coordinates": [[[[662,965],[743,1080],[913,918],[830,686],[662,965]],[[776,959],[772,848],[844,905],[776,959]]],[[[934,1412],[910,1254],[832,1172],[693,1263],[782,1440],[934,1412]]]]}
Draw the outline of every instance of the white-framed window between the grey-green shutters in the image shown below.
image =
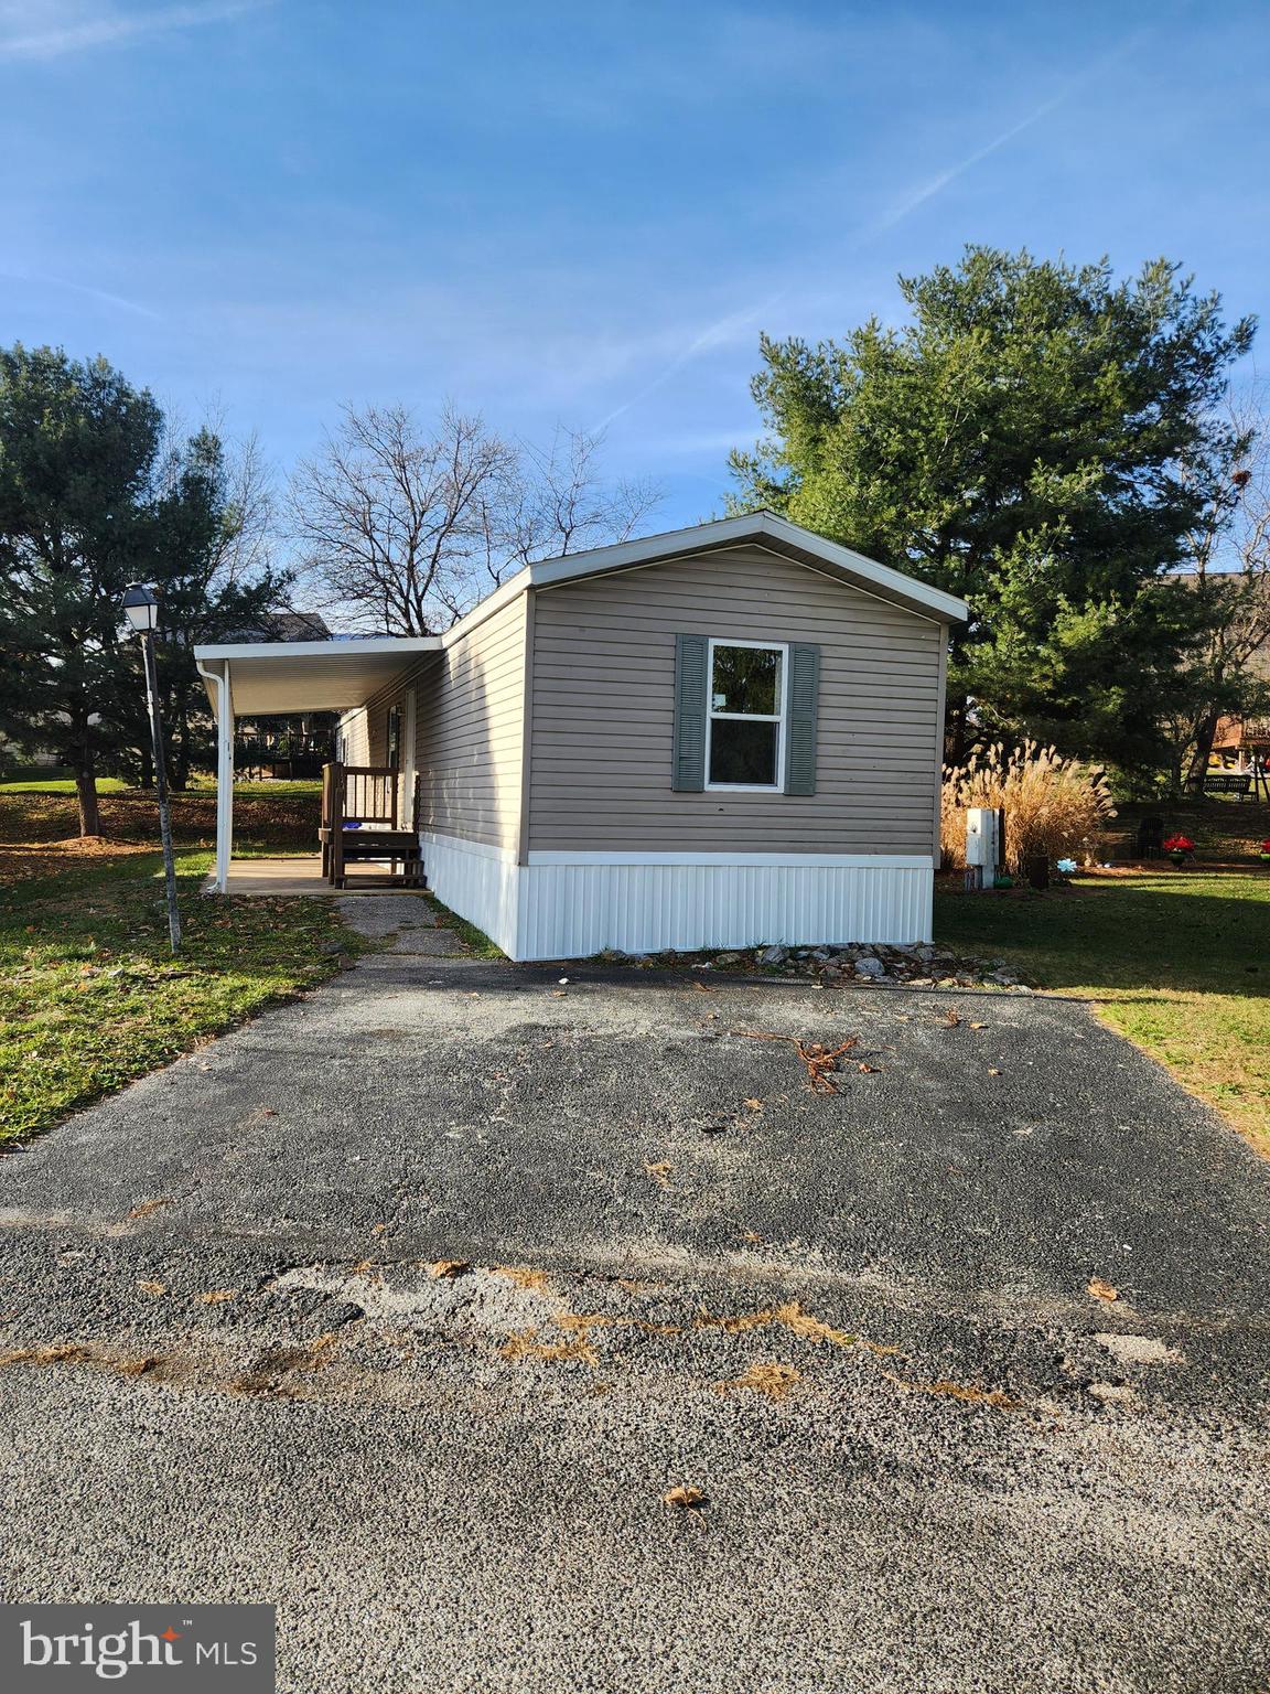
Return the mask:
{"type": "Polygon", "coordinates": [[[786,649],[711,640],[708,706],[706,788],[779,788],[786,649]]]}

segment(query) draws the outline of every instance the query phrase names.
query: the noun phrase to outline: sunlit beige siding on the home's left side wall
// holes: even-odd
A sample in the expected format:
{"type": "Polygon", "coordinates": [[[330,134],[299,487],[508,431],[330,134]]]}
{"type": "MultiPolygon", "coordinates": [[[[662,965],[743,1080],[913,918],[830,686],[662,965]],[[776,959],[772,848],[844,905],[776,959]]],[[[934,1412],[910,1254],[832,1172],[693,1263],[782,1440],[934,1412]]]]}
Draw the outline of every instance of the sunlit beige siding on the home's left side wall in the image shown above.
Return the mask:
{"type": "Polygon", "coordinates": [[[520,845],[527,608],[516,595],[417,671],[420,830],[520,845]]]}

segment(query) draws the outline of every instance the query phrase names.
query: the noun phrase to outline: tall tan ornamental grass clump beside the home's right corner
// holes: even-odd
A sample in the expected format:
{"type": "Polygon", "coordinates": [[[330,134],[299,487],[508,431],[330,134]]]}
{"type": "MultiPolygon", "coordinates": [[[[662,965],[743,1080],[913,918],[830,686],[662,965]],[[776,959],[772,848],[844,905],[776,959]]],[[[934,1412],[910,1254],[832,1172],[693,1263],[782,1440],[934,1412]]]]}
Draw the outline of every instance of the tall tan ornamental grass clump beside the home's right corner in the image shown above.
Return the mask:
{"type": "Polygon", "coordinates": [[[943,862],[965,866],[967,806],[1006,811],[1006,866],[1023,874],[1024,861],[1094,857],[1107,818],[1116,817],[1101,771],[1063,759],[1053,747],[989,747],[962,766],[943,767],[940,845],[943,862]]]}

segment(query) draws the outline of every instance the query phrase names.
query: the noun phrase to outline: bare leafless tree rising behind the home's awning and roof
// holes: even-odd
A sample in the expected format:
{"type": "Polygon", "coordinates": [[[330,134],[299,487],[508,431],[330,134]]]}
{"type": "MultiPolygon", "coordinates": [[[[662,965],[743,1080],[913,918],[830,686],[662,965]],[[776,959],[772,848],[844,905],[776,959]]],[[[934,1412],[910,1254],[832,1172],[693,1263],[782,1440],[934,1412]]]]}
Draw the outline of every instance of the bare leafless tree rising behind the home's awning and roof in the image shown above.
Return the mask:
{"type": "Polygon", "coordinates": [[[361,627],[437,634],[530,559],[632,534],[659,495],[606,488],[598,449],[569,432],[549,452],[506,442],[449,405],[432,430],[408,407],[345,407],[291,481],[308,578],[361,627]]]}

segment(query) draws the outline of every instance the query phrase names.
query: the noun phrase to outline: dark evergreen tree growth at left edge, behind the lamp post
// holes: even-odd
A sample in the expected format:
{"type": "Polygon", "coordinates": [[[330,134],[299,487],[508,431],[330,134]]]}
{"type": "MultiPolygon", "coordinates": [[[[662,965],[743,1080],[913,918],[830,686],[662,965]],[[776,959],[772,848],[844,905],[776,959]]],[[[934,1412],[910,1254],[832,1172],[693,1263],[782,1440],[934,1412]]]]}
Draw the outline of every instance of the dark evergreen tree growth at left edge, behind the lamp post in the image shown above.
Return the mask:
{"type": "Polygon", "coordinates": [[[164,689],[193,698],[193,639],[286,588],[268,567],[225,571],[237,525],[213,435],[166,446],[154,398],[105,359],[0,349],[0,734],[71,766],[85,835],[100,833],[98,771],[135,767],[147,739],[124,590],[157,588],[164,689]]]}

